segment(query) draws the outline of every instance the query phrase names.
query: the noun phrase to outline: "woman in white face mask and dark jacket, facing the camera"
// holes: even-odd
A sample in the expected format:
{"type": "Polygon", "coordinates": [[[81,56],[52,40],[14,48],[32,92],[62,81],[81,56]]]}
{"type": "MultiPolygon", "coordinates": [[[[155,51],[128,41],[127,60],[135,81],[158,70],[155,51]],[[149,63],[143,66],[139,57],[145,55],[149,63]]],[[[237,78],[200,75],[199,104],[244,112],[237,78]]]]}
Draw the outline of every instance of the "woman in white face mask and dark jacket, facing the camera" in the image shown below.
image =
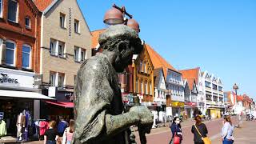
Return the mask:
{"type": "Polygon", "coordinates": [[[173,119],[173,122],[170,126],[170,130],[171,130],[171,133],[172,133],[170,144],[173,144],[173,143],[176,144],[174,142],[174,137],[179,138],[179,144],[182,143],[182,126],[181,126],[180,122],[181,122],[181,120],[178,117],[175,117],[173,119]]]}

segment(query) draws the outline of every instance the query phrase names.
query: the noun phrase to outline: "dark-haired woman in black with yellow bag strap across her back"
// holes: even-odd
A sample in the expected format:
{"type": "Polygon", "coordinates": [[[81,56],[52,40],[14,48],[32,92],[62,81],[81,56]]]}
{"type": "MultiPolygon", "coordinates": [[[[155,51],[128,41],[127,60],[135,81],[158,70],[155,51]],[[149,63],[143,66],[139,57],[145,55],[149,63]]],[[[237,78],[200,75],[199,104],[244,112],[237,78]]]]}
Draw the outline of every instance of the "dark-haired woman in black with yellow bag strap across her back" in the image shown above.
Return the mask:
{"type": "Polygon", "coordinates": [[[192,126],[191,132],[194,134],[194,144],[204,144],[202,138],[206,138],[208,134],[207,127],[202,123],[202,118],[198,115],[194,118],[195,124],[192,126]]]}

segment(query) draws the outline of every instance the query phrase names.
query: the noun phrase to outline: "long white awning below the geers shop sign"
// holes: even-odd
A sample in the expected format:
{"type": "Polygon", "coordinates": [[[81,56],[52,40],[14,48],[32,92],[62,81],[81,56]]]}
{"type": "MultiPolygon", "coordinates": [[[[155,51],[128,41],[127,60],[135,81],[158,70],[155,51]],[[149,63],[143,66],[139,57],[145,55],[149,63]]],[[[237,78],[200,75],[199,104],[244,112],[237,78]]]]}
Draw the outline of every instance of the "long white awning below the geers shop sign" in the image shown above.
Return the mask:
{"type": "Polygon", "coordinates": [[[33,98],[33,99],[48,99],[48,100],[54,99],[54,98],[50,98],[50,97],[47,97],[46,95],[39,94],[36,92],[17,91],[17,90],[0,90],[0,97],[33,98]]]}

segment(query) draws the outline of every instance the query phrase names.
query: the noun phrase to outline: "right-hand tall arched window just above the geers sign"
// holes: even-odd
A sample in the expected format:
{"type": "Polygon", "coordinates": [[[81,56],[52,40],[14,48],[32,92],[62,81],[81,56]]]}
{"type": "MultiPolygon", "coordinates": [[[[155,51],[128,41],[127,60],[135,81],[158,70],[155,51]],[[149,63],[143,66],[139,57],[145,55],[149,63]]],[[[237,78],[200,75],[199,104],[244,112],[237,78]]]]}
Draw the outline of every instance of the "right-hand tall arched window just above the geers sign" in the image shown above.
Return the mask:
{"type": "Polygon", "coordinates": [[[30,68],[30,51],[30,46],[22,46],[22,67],[26,69],[30,68]]]}

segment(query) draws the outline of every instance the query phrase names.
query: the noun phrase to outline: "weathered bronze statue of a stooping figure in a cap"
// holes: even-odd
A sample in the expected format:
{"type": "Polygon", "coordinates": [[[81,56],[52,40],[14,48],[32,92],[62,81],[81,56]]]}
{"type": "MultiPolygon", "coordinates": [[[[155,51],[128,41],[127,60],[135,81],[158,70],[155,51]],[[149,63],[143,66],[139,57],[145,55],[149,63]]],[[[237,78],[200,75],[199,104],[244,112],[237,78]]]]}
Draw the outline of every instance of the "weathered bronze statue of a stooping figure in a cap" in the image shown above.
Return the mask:
{"type": "Polygon", "coordinates": [[[142,42],[128,26],[110,26],[100,35],[102,53],[82,64],[75,83],[74,144],[127,144],[130,126],[138,125],[141,142],[150,133],[153,115],[145,106],[134,106],[124,113],[118,72],[142,51],[142,42]]]}

